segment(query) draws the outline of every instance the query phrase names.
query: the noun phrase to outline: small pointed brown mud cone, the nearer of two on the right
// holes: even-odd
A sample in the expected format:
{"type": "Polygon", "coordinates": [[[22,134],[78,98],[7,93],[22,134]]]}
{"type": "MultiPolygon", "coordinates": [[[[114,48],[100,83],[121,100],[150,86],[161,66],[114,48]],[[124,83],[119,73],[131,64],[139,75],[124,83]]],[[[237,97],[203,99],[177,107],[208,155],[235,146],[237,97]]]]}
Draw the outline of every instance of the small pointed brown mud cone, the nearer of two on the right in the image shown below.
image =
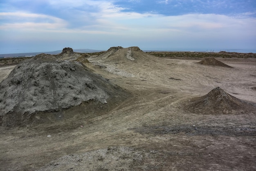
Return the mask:
{"type": "Polygon", "coordinates": [[[240,100],[220,87],[211,90],[207,95],[189,100],[185,109],[203,114],[238,114],[255,113],[256,105],[240,100]]]}

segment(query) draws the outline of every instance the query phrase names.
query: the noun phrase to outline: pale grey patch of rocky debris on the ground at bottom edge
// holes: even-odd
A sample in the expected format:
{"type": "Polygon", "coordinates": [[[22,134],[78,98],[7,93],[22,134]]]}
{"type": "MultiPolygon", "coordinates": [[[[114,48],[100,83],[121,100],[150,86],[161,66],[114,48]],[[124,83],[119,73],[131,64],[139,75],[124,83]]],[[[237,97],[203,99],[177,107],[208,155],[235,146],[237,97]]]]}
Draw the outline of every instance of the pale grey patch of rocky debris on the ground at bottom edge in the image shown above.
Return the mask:
{"type": "Polygon", "coordinates": [[[65,155],[46,164],[38,171],[54,170],[127,170],[137,160],[141,162],[143,156],[139,151],[129,147],[109,147],[89,151],[82,154],[65,155]]]}

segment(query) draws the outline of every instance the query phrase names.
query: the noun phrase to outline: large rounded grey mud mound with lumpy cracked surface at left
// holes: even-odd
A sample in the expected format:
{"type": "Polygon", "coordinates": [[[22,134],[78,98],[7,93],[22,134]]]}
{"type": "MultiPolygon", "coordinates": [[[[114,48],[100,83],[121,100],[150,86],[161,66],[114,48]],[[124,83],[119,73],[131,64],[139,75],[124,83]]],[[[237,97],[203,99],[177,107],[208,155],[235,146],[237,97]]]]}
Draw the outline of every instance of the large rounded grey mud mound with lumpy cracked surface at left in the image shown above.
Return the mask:
{"type": "Polygon", "coordinates": [[[32,113],[60,111],[82,102],[121,101],[128,93],[80,62],[36,57],[18,64],[0,83],[4,125],[25,124],[32,113]]]}

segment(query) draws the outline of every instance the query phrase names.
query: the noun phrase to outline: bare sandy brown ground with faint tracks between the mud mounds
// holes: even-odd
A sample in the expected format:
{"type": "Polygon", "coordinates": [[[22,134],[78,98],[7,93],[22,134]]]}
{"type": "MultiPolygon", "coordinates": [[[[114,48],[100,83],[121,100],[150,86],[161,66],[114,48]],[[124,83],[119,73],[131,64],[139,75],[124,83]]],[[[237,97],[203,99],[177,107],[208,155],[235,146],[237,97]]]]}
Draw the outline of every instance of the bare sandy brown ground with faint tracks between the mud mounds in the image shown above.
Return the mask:
{"type": "MultiPolygon", "coordinates": [[[[84,120],[0,127],[0,170],[256,170],[256,115],[189,113],[181,105],[215,87],[256,103],[256,58],[216,58],[233,67],[225,68],[126,55],[88,60],[131,98],[84,120]]],[[[1,67],[0,79],[11,69],[1,67]]]]}

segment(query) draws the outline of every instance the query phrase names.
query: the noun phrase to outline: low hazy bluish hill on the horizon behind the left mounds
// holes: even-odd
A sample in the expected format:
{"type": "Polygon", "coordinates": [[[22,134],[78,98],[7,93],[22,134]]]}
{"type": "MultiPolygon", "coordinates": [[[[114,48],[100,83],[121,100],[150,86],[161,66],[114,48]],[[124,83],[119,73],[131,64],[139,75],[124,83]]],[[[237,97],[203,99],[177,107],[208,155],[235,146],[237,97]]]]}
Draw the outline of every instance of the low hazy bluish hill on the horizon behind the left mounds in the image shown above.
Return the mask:
{"type": "MultiPolygon", "coordinates": [[[[0,58],[7,58],[7,57],[32,57],[36,56],[40,53],[46,53],[51,55],[56,55],[61,53],[62,50],[58,51],[50,51],[50,52],[30,52],[30,53],[7,53],[7,54],[0,54],[0,58]]],[[[79,53],[93,53],[93,52],[100,52],[99,50],[94,49],[74,49],[74,52],[79,53]]]]}

